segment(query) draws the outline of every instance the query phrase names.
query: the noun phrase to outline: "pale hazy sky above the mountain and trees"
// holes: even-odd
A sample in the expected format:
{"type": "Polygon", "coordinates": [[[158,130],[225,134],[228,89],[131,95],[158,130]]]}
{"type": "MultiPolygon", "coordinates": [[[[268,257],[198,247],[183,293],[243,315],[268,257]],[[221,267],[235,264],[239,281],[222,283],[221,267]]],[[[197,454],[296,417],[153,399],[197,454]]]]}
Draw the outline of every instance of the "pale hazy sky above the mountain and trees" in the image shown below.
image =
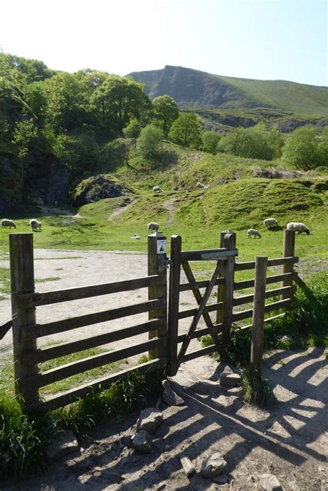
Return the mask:
{"type": "Polygon", "coordinates": [[[51,69],[186,66],[327,85],[327,1],[2,0],[0,46],[51,69]]]}

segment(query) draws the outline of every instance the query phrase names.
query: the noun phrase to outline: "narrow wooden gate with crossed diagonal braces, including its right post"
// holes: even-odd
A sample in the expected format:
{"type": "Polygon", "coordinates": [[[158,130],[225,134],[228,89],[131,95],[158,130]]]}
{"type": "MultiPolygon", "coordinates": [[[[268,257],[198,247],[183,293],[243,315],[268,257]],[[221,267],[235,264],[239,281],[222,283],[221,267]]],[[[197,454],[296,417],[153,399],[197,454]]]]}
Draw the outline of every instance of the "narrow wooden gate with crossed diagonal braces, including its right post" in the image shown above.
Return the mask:
{"type": "Polygon", "coordinates": [[[222,233],[219,249],[203,249],[200,251],[181,251],[180,235],[173,235],[171,240],[171,268],[170,268],[170,296],[168,311],[168,373],[175,375],[183,361],[189,361],[208,355],[214,351],[222,352],[229,337],[228,328],[233,314],[233,271],[235,256],[236,234],[222,233]],[[190,262],[215,261],[215,269],[210,280],[197,281],[194,277],[190,262]],[[188,283],[181,283],[181,267],[188,283]],[[217,303],[208,305],[212,289],[217,286],[217,303]],[[203,295],[201,288],[205,287],[203,295]],[[192,290],[198,307],[190,310],[179,310],[180,292],[192,290]],[[210,312],[217,312],[216,322],[210,317],[210,312]],[[186,334],[179,335],[179,320],[192,317],[190,327],[186,334]],[[203,317],[206,328],[197,329],[203,317]],[[219,339],[219,333],[221,333],[219,339]],[[188,352],[190,341],[194,338],[210,334],[212,345],[192,352],[188,352]],[[178,344],[182,343],[179,352],[178,344]]]}

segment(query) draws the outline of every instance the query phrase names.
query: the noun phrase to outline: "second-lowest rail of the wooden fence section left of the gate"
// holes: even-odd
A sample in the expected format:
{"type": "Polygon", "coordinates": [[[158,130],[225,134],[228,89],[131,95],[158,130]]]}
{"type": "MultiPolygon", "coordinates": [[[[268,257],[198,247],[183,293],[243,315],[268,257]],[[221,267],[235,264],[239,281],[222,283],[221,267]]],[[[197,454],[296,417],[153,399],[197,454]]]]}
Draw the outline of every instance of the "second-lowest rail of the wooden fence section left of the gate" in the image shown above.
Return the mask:
{"type": "Polygon", "coordinates": [[[79,361],[73,361],[72,363],[59,366],[57,368],[52,368],[38,375],[33,375],[31,377],[26,377],[22,380],[27,391],[35,389],[37,387],[43,387],[58,380],[63,380],[77,373],[84,373],[92,368],[98,368],[99,366],[104,366],[113,361],[118,361],[127,357],[134,355],[139,355],[140,353],[146,352],[149,349],[157,348],[163,339],[152,339],[145,343],[136,344],[135,346],[129,346],[128,348],[122,348],[120,350],[109,351],[106,353],[100,353],[100,355],[93,355],[92,357],[84,358],[79,361]]]}

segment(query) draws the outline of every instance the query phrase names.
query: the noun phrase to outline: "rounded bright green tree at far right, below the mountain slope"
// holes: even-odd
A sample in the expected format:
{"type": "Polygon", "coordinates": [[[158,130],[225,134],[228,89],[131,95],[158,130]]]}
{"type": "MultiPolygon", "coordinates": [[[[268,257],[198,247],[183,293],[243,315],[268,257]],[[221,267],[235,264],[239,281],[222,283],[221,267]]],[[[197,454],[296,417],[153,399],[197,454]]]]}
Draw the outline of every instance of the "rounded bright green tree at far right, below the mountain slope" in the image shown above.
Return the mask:
{"type": "Polygon", "coordinates": [[[282,149],[283,159],[302,170],[316,168],[320,155],[316,130],[306,125],[293,131],[282,149]]]}

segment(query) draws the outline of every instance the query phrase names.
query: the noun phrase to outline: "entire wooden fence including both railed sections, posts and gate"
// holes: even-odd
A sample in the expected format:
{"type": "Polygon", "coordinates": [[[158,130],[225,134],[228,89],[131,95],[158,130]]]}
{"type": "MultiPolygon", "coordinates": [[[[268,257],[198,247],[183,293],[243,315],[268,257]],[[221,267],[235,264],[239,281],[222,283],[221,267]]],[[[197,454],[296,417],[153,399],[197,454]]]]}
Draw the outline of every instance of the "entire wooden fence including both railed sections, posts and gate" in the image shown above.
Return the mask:
{"type": "MultiPolygon", "coordinates": [[[[211,352],[224,352],[229,342],[230,329],[233,323],[253,318],[252,323],[244,328],[253,328],[253,346],[251,358],[260,371],[262,361],[263,323],[282,315],[282,310],[289,307],[295,285],[293,280],[298,276],[293,265],[298,262],[294,257],[295,232],[284,231],[282,258],[257,258],[256,261],[236,262],[235,233],[221,233],[219,249],[201,251],[181,251],[181,237],[173,236],[171,241],[170,261],[166,256],[165,237],[158,233],[148,237],[148,276],[131,280],[122,280],[102,285],[89,285],[52,292],[35,292],[33,265],[33,234],[10,234],[10,275],[12,298],[12,336],[15,359],[15,392],[23,396],[28,409],[46,411],[62,407],[77,398],[84,397],[90,391],[106,389],[113,382],[125,379],[131,371],[140,374],[149,373],[159,367],[167,367],[167,374],[174,375],[183,361],[189,361],[211,352]],[[164,247],[163,247],[164,246],[164,247]],[[215,261],[215,268],[210,280],[197,281],[190,267],[190,262],[199,260],[215,261]],[[170,262],[170,294],[167,295],[167,264],[170,262]],[[282,272],[267,276],[266,269],[282,266],[282,272]],[[181,283],[183,269],[187,283],[181,283]],[[255,278],[235,280],[238,271],[255,269],[255,278]],[[281,282],[279,288],[266,289],[266,285],[281,282]],[[212,289],[217,287],[217,301],[208,305],[212,289]],[[71,317],[63,320],[52,320],[39,324],[35,310],[41,305],[69,302],[82,298],[128,292],[134,289],[147,288],[148,300],[135,305],[112,308],[71,317]],[[201,289],[205,288],[202,294],[201,289]],[[236,296],[235,292],[254,288],[254,292],[236,296]],[[180,310],[181,292],[192,291],[197,307],[180,310]],[[265,303],[267,299],[279,296],[279,300],[265,303]],[[168,298],[168,314],[167,314],[168,298]],[[252,308],[236,311],[236,307],[252,304],[252,308]],[[67,332],[96,323],[121,319],[148,312],[148,321],[129,327],[111,330],[104,334],[91,335],[78,341],[69,341],[57,346],[38,347],[37,339],[49,334],[67,332]],[[216,313],[212,321],[210,312],[216,313]],[[269,319],[264,319],[268,312],[278,312],[269,319]],[[187,333],[179,334],[179,321],[192,318],[187,333]],[[206,328],[198,328],[203,318],[206,328]],[[107,345],[139,334],[149,333],[147,341],[139,342],[123,349],[102,352],[69,364],[57,366],[48,371],[41,371],[39,364],[64,355],[80,352],[89,348],[107,345]],[[212,345],[187,352],[191,339],[205,334],[212,337],[212,345]],[[179,352],[178,352],[179,351],[179,352]],[[93,380],[82,386],[53,395],[42,400],[39,389],[53,382],[64,380],[91,368],[105,366],[114,361],[149,352],[151,361],[131,366],[125,371],[113,373],[93,380]]],[[[8,329],[8,325],[6,325],[8,329]]]]}

